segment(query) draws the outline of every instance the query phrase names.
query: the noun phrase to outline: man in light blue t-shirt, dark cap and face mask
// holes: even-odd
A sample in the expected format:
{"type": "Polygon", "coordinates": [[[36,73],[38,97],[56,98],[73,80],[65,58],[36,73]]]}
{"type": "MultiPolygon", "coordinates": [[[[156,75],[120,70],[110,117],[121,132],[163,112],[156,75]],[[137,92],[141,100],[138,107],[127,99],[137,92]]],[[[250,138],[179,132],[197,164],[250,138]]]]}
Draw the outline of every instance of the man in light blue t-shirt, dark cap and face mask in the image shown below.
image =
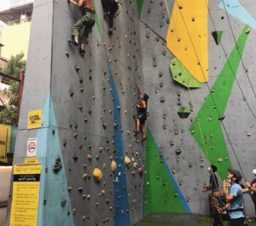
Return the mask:
{"type": "Polygon", "coordinates": [[[239,185],[241,179],[242,175],[239,171],[228,169],[227,180],[223,182],[223,193],[227,204],[219,211],[222,212],[227,209],[230,215],[230,226],[244,225],[243,191],[239,185]]]}

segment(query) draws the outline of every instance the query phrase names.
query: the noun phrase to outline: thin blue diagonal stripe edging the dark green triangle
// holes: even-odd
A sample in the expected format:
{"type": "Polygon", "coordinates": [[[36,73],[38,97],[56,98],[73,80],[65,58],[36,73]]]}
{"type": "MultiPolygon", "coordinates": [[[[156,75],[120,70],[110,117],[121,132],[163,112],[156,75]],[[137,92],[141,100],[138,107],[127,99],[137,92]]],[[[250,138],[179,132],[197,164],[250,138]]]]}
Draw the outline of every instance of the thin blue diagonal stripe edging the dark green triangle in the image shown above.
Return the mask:
{"type": "MultiPolygon", "coordinates": [[[[148,129],[148,131],[149,131],[149,133],[151,133],[149,129],[148,129]]],[[[152,136],[152,133],[151,133],[151,136],[152,136]]],[[[176,189],[176,192],[177,192],[177,194],[178,194],[178,198],[181,200],[181,204],[182,204],[182,206],[184,207],[185,212],[186,212],[187,214],[192,214],[192,211],[191,211],[191,209],[189,208],[189,206],[187,205],[187,201],[185,200],[185,198],[184,198],[184,196],[183,196],[181,190],[179,189],[178,184],[177,184],[176,180],[174,179],[173,174],[172,174],[172,172],[170,171],[170,168],[168,167],[168,165],[167,165],[167,163],[166,163],[166,161],[165,161],[165,158],[164,158],[163,155],[162,155],[162,152],[160,152],[160,149],[159,149],[159,147],[158,147],[158,145],[157,145],[157,142],[154,140],[154,136],[152,136],[152,139],[153,139],[153,141],[154,141],[155,146],[157,147],[157,151],[159,152],[159,155],[162,156],[162,159],[161,159],[161,160],[163,160],[163,162],[164,162],[164,164],[165,164],[165,168],[166,168],[167,173],[169,174],[170,181],[173,183],[173,186],[174,186],[175,189],[176,189]]]]}

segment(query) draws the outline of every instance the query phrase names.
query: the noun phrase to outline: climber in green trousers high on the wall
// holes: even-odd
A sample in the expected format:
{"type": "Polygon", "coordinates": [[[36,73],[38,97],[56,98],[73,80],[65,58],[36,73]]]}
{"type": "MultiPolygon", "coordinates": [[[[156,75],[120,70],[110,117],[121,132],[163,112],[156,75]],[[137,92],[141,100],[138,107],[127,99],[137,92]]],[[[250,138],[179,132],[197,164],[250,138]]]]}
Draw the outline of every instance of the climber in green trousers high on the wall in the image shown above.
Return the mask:
{"type": "Polygon", "coordinates": [[[83,29],[83,36],[80,40],[79,53],[83,57],[86,53],[85,46],[88,43],[89,34],[95,23],[95,12],[93,0],[68,0],[68,2],[74,4],[76,7],[80,8],[82,12],[82,17],[72,26],[72,39],[69,40],[69,44],[74,44],[76,47],[79,44],[78,36],[79,32],[83,29]]]}

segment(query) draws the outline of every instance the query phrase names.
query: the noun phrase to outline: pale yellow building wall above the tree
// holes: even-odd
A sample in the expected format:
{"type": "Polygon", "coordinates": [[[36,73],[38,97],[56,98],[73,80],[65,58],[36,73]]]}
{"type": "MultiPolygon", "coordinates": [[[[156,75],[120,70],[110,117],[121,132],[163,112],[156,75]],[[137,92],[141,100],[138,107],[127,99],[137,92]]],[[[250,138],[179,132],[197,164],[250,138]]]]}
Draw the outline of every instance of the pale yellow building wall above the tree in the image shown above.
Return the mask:
{"type": "Polygon", "coordinates": [[[26,60],[29,49],[29,35],[31,22],[24,22],[13,26],[7,26],[1,29],[1,56],[10,59],[11,55],[17,55],[21,51],[26,60]]]}

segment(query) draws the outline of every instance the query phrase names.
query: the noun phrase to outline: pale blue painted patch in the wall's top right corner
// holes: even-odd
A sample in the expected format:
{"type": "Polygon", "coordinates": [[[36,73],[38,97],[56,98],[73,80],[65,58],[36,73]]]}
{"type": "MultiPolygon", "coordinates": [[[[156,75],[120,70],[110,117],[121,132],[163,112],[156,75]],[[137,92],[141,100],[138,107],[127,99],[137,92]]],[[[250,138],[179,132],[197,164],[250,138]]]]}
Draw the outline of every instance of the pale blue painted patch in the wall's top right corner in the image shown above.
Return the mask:
{"type": "Polygon", "coordinates": [[[252,15],[241,5],[238,0],[223,0],[219,7],[226,9],[230,15],[241,20],[244,24],[248,24],[252,28],[256,29],[256,20],[252,15]]]}

